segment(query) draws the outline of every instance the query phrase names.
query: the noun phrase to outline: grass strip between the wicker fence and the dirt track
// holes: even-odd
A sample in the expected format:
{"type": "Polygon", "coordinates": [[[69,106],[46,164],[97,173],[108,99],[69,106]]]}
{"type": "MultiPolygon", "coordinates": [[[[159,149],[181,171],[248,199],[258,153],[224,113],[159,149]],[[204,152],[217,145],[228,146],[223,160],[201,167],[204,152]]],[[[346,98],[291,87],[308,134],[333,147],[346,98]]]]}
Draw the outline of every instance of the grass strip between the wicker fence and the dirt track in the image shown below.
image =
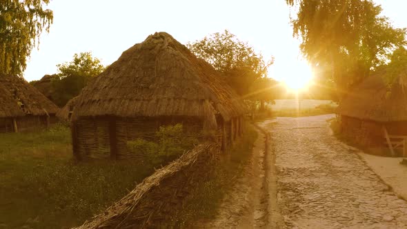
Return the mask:
{"type": "Polygon", "coordinates": [[[244,137],[227,152],[228,157],[221,159],[209,179],[190,192],[184,208],[175,212],[168,228],[191,228],[192,223],[215,218],[222,199],[243,174],[256,139],[256,130],[248,126],[244,137]]]}

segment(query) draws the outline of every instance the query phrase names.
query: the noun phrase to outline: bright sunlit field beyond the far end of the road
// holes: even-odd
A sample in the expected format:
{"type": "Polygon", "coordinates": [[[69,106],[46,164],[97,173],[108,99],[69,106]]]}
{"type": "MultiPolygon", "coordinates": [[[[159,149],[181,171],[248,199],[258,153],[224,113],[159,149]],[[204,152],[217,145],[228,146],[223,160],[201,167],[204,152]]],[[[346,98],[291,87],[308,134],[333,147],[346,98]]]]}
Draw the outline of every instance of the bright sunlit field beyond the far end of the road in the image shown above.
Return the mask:
{"type": "Polygon", "coordinates": [[[330,100],[317,99],[276,99],[270,104],[273,116],[277,117],[303,117],[312,115],[325,115],[335,112],[337,103],[330,100]]]}

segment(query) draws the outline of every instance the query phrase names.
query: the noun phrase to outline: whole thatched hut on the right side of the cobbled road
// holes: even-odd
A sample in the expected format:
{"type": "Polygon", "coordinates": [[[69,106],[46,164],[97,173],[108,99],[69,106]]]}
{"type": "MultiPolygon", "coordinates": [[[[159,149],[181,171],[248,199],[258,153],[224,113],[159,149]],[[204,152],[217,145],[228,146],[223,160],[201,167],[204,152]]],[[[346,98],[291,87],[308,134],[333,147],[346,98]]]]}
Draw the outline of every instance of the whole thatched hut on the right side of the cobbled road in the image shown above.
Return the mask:
{"type": "Polygon", "coordinates": [[[407,83],[399,77],[389,88],[382,74],[374,74],[353,88],[337,113],[341,131],[359,146],[377,154],[389,147],[394,155],[393,147],[403,148],[407,137],[407,83]]]}

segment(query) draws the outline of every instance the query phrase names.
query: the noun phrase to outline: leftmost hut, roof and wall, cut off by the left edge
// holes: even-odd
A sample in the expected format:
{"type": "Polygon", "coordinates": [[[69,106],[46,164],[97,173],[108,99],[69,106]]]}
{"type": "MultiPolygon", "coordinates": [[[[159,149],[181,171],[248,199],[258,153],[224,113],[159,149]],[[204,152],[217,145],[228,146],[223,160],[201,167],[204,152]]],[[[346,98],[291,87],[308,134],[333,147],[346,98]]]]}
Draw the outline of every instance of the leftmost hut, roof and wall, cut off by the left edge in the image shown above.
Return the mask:
{"type": "Polygon", "coordinates": [[[17,118],[24,113],[10,92],[0,84],[0,132],[17,132],[17,118]]]}

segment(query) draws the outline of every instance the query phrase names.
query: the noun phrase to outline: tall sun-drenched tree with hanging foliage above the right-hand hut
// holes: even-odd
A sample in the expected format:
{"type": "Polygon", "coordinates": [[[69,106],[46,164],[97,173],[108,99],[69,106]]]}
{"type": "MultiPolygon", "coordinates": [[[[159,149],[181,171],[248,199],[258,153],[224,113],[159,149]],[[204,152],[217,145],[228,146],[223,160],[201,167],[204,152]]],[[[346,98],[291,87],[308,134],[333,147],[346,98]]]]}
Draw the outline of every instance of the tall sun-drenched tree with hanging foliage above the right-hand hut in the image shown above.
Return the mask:
{"type": "Polygon", "coordinates": [[[339,92],[368,77],[393,50],[403,46],[405,29],[393,28],[371,0],[286,0],[298,6],[293,35],[321,78],[339,92]]]}

